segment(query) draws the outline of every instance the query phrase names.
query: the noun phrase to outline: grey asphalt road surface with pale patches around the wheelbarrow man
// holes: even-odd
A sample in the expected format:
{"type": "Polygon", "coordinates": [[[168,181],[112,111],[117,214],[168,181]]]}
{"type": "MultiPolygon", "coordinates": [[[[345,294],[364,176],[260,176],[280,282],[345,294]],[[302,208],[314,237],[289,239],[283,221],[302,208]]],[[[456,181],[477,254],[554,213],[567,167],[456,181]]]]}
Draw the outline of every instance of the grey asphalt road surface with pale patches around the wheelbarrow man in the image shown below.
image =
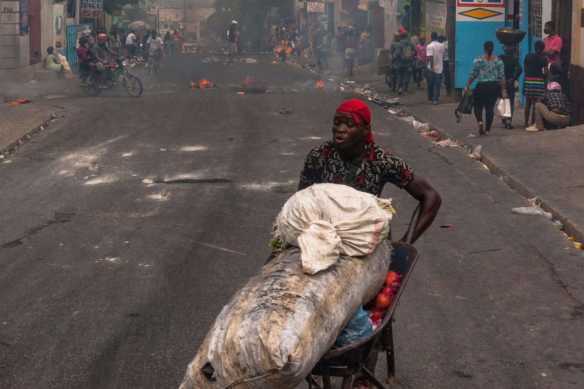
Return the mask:
{"type": "MultiPolygon", "coordinates": [[[[202,58],[138,70],[138,99],[54,99],[65,118],[0,164],[0,387],[178,387],[265,261],[305,154],[352,96],[327,80],[302,89],[317,75],[270,56],[202,58]],[[229,85],[247,76],[287,93],[237,95],[229,85]],[[200,78],[218,87],[186,88],[200,78]]],[[[443,198],[395,315],[395,387],[582,387],[584,286],[555,274],[581,275],[582,255],[545,217],[512,214],[525,199],[463,150],[371,110],[377,143],[443,198]]],[[[415,202],[390,186],[384,197],[399,237],[415,202]]]]}

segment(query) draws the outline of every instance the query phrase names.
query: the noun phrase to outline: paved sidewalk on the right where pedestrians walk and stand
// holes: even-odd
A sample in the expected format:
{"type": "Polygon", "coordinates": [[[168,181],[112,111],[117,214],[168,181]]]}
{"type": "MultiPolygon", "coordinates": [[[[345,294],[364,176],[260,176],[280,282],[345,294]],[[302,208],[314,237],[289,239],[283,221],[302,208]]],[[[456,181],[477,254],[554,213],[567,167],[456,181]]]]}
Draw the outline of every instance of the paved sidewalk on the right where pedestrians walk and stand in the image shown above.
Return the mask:
{"type": "MultiPolygon", "coordinates": [[[[296,57],[291,59],[308,67],[316,64],[315,57],[300,61],[296,57]]],[[[495,117],[492,136],[481,137],[474,114],[463,115],[460,123],[456,123],[454,110],[458,100],[454,96],[457,93],[453,92],[453,97],[446,98],[446,91],[441,89],[440,104],[432,105],[426,101],[425,80],[421,83],[421,90],[410,82],[408,95],[398,96],[388,89],[383,75],[373,74],[371,64],[354,68],[354,77],[349,77],[346,70],[340,69],[340,57],[329,58],[328,61],[332,71],[323,74],[323,77],[352,88],[363,88],[369,84],[371,95],[378,95],[381,99],[399,98],[402,112],[411,114],[422,123],[429,123],[430,130],[439,132],[443,139],[458,140],[461,144],[470,145],[472,150],[481,145],[481,162],[493,174],[523,196],[529,199],[537,196],[537,203],[564,223],[566,233],[572,235],[575,241],[584,243],[584,158],[579,147],[584,144],[584,126],[526,133],[523,131],[523,108],[515,107],[515,130],[503,128],[500,119],[495,117]],[[347,80],[355,82],[347,84],[347,80]],[[470,133],[475,137],[469,138],[470,133]]],[[[523,206],[529,204],[517,204],[517,207],[523,206]]],[[[567,240],[566,245],[570,245],[567,240]]]]}

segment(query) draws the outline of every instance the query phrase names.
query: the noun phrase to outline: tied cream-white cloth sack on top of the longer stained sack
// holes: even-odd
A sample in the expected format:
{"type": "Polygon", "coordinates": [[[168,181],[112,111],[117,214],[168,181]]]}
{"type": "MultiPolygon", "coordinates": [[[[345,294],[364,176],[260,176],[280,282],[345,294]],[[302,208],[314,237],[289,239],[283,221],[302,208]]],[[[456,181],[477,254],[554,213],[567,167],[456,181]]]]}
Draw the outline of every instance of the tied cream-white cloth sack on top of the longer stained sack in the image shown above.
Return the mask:
{"type": "Polygon", "coordinates": [[[288,199],[276,218],[274,235],[300,247],[304,272],[315,274],[340,254],[366,255],[387,238],[392,214],[380,204],[387,206],[391,199],[345,185],[315,184],[288,199]]]}

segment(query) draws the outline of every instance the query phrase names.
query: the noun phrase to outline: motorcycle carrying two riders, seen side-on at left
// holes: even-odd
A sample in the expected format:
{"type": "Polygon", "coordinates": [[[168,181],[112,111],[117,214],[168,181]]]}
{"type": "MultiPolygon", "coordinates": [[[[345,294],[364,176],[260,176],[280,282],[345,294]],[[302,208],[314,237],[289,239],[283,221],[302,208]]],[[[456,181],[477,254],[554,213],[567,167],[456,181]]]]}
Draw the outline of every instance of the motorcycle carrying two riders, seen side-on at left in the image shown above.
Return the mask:
{"type": "Polygon", "coordinates": [[[106,62],[106,69],[103,70],[108,72],[105,79],[106,85],[99,85],[101,74],[91,72],[81,74],[83,78],[89,77],[89,81],[87,84],[79,86],[84,88],[85,93],[89,96],[98,96],[104,89],[112,90],[123,85],[128,95],[135,98],[140,97],[142,94],[142,82],[137,75],[130,73],[131,67],[133,65],[130,64],[127,58],[120,55],[120,57],[117,57],[117,62],[106,62]]]}

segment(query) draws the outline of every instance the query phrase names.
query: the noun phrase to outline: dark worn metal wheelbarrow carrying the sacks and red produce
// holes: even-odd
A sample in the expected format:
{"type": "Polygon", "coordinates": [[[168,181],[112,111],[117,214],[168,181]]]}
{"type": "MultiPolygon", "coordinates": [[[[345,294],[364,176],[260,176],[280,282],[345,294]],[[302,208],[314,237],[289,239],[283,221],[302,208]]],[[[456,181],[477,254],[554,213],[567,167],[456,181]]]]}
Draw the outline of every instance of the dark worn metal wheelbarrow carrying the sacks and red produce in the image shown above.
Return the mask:
{"type": "Polygon", "coordinates": [[[394,300],[391,302],[383,321],[381,321],[381,325],[367,338],[354,342],[349,346],[331,349],[326,352],[306,378],[309,389],[316,386],[312,376],[322,376],[324,389],[331,389],[331,377],[342,377],[343,381],[340,389],[350,389],[353,385],[354,376],[359,373],[378,389],[390,389],[393,386],[395,353],[392,323],[395,321],[394,312],[399,305],[399,297],[404,292],[408,279],[412,274],[413,266],[419,257],[418,251],[413,248],[411,242],[413,240],[413,232],[418,224],[420,207],[420,204],[418,204],[413,212],[408,233],[406,234],[406,241],[392,244],[394,250],[391,255],[389,270],[393,270],[403,277],[394,300]],[[375,376],[377,355],[380,352],[385,352],[387,356],[387,378],[384,383],[381,383],[375,376]]]}

